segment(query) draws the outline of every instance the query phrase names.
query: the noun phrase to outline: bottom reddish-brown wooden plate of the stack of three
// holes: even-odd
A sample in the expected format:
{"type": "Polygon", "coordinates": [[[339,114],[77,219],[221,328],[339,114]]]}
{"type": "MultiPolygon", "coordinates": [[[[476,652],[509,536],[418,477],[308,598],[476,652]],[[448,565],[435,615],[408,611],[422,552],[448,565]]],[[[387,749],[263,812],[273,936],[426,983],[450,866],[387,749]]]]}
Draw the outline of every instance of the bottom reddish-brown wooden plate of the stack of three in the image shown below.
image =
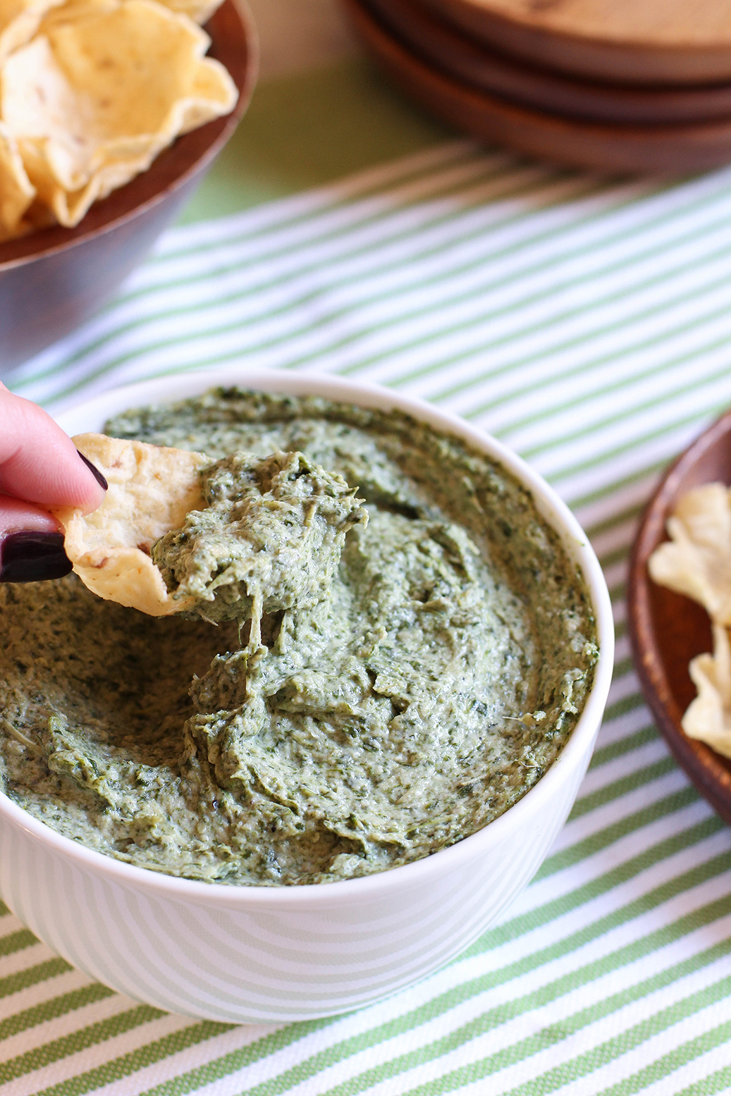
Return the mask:
{"type": "Polygon", "coordinates": [[[610,126],[509,103],[437,72],[410,53],[362,0],[351,22],[393,81],[445,122],[553,163],[613,173],[679,174],[731,161],[731,119],[695,125],[610,126]]]}

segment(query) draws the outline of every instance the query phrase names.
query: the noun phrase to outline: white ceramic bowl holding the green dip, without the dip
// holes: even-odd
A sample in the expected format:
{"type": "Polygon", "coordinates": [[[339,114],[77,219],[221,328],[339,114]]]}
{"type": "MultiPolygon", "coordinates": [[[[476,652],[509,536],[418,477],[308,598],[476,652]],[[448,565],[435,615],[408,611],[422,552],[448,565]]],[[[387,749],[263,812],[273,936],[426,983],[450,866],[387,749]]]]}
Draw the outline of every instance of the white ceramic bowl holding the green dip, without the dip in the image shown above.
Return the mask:
{"type": "Polygon", "coordinates": [[[478,833],[380,875],[287,888],[176,879],[83,848],[0,795],[0,893],[70,963],[176,1013],[239,1023],[300,1020],[377,1001],[442,967],[528,883],[567,819],[592,754],[612,677],[612,608],[585,535],[540,477],[464,421],[386,389],[227,368],[115,389],[58,421],[69,434],[100,430],[126,408],[231,384],[398,408],[496,458],[532,491],[579,563],[601,647],[582,716],[538,784],[478,833]]]}

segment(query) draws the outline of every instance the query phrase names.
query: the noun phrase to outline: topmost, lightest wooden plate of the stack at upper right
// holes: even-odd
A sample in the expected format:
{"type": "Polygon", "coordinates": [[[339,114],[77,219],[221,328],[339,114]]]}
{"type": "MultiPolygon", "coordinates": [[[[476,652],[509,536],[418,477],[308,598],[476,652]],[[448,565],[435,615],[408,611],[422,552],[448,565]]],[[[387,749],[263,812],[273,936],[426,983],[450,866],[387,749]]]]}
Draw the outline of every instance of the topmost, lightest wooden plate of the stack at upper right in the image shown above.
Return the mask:
{"type": "Polygon", "coordinates": [[[731,79],[731,0],[424,2],[491,46],[590,80],[731,79]]]}

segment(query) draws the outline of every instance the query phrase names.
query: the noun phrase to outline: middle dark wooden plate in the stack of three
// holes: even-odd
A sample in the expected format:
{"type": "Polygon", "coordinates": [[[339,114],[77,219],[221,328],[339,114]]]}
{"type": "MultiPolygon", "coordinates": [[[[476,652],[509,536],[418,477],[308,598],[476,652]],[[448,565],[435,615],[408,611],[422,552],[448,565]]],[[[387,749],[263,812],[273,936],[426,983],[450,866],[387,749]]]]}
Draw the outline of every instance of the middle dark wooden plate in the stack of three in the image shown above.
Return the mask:
{"type": "Polygon", "coordinates": [[[447,76],[538,111],[592,122],[658,124],[731,118],[731,83],[688,88],[590,83],[526,65],[476,42],[419,0],[367,0],[412,53],[447,76]]]}

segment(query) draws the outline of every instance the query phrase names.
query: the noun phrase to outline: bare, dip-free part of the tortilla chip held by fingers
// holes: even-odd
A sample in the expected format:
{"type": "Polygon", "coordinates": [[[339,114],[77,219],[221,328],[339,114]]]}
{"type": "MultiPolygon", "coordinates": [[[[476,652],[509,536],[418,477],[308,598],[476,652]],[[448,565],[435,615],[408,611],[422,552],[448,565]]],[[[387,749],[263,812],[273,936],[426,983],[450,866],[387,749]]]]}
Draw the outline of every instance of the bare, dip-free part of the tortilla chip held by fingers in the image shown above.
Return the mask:
{"type": "Polygon", "coordinates": [[[79,434],[73,444],[106,477],[99,510],[56,510],[66,553],[85,586],[106,601],[169,616],[195,604],[175,600],[150,559],[150,548],[180,528],[191,510],[206,503],[198,469],[208,457],[184,449],[126,442],[104,434],[79,434]]]}

